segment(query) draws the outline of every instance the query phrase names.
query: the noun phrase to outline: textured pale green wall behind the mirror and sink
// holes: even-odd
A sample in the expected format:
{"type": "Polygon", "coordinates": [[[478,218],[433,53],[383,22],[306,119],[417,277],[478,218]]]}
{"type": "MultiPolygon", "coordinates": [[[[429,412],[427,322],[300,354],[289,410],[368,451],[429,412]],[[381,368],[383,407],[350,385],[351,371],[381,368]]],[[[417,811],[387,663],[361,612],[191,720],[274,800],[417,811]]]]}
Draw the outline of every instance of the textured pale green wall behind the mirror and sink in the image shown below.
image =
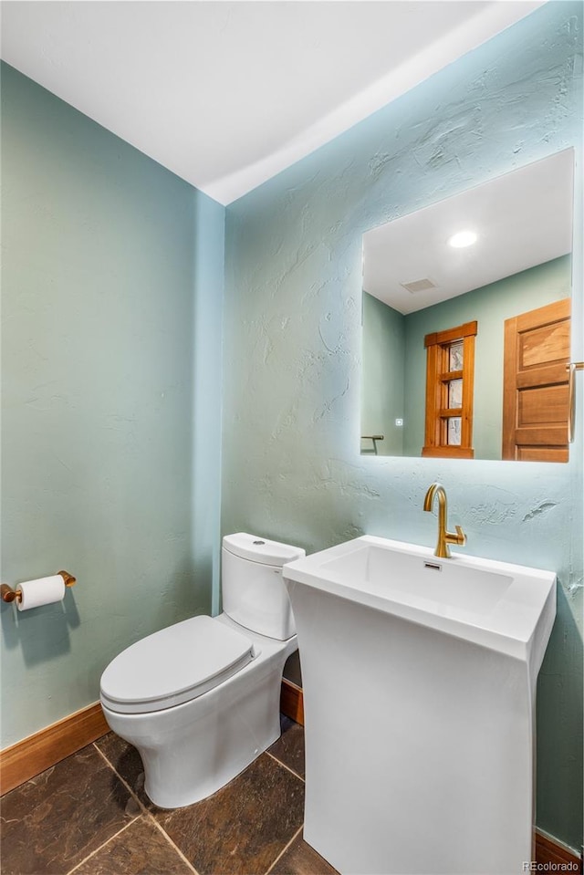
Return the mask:
{"type": "MultiPolygon", "coordinates": [[[[308,551],[364,532],[433,545],[422,498],[439,479],[469,553],[557,571],[538,685],[537,823],[575,847],[581,407],[565,465],[360,456],[360,257],[361,234],[395,216],[569,146],[580,161],[581,16],[579,3],[542,6],[228,208],[222,500],[224,532],[308,551]]],[[[581,358],[579,205],[575,236],[581,358]]]]}

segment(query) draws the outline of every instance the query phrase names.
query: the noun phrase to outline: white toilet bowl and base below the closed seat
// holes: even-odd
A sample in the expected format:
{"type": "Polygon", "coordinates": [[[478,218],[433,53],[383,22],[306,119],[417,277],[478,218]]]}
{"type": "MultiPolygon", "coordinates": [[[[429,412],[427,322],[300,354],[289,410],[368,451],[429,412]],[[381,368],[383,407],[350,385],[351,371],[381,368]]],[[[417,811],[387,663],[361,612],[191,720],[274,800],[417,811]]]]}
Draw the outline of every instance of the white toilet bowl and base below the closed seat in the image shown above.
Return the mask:
{"type": "MultiPolygon", "coordinates": [[[[232,625],[224,615],[216,620],[232,625]]],[[[102,703],[111,729],[138,749],[144,788],[158,807],[211,796],[280,735],[282,672],[297,648],[296,636],[274,641],[238,628],[254,641],[257,655],[214,690],[151,714],[118,714],[102,703]]]]}

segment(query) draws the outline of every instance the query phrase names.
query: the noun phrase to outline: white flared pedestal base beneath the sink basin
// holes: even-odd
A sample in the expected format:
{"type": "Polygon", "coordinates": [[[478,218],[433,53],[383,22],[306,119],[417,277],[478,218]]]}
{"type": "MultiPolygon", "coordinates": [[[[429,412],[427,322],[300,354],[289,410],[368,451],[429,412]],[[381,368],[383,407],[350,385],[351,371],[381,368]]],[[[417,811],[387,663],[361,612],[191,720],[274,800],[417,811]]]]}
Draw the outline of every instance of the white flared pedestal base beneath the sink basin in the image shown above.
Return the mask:
{"type": "Polygon", "coordinates": [[[518,875],[532,859],[526,661],[300,583],[304,838],[342,875],[518,875]]]}

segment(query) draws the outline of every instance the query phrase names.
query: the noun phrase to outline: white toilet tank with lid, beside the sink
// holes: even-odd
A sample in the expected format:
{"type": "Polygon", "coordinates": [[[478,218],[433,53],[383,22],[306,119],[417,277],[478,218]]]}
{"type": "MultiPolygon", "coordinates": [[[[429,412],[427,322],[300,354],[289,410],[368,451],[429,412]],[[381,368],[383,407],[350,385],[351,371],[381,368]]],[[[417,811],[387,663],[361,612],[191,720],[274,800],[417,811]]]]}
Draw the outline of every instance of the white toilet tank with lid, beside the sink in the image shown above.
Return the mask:
{"type": "Polygon", "coordinates": [[[282,567],[303,556],[306,551],[301,547],[245,532],[224,536],[221,569],[224,613],[245,629],[287,641],[296,633],[296,625],[282,567]]]}

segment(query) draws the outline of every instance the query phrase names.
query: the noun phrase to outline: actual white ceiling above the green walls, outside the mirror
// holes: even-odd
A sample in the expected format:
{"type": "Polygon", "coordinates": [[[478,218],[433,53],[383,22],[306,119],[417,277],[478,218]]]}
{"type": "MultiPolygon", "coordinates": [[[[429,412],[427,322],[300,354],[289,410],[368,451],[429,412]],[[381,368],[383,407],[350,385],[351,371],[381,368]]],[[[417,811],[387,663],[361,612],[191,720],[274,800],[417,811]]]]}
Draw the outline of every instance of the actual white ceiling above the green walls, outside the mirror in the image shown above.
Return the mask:
{"type": "Polygon", "coordinates": [[[543,0],[2,0],[1,54],[220,203],[543,0]]]}

